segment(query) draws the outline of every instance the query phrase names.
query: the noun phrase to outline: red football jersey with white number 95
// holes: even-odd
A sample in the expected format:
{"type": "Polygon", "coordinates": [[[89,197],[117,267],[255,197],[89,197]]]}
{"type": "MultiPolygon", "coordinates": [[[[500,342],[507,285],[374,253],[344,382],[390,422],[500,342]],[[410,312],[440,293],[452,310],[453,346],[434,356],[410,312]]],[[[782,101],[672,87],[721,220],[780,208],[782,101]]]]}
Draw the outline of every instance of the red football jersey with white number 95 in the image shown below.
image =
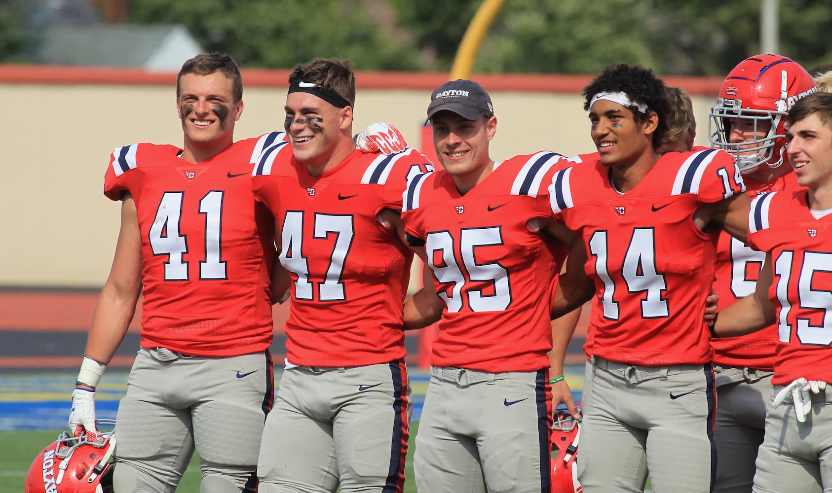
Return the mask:
{"type": "Polygon", "coordinates": [[[552,175],[571,164],[553,152],[518,155],[495,163],[465,195],[444,170],[409,181],[404,228],[424,242],[445,302],[432,365],[486,372],[550,366],[550,286],[566,251],[544,242],[537,222],[552,216],[552,175]]]}

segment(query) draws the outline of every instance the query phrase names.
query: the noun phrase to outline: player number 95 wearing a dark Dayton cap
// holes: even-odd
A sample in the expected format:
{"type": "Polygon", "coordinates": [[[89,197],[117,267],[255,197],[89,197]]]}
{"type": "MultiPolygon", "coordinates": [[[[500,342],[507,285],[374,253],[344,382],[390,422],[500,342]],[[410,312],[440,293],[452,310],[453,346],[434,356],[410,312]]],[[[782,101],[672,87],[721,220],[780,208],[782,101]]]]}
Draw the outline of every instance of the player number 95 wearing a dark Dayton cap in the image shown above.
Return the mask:
{"type": "Polygon", "coordinates": [[[558,368],[550,381],[548,302],[566,251],[547,231],[555,226],[547,184],[573,163],[548,151],[491,159],[497,117],[474,81],[434,90],[428,120],[443,170],[409,180],[402,209],[409,242],[426,250],[433,272],[406,303],[405,323],[441,313],[416,485],[548,492],[551,386],[564,380],[558,368]]]}

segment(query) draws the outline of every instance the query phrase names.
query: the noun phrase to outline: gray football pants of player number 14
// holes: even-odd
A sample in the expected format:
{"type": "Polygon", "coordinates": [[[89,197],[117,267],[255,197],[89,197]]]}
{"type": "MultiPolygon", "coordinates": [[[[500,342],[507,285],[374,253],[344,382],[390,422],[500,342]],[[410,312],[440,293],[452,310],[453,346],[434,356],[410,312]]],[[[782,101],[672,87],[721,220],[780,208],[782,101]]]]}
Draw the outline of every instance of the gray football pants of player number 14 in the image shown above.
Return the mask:
{"type": "Polygon", "coordinates": [[[706,493],[716,475],[711,364],[643,367],[593,357],[578,480],[585,493],[706,493]]]}

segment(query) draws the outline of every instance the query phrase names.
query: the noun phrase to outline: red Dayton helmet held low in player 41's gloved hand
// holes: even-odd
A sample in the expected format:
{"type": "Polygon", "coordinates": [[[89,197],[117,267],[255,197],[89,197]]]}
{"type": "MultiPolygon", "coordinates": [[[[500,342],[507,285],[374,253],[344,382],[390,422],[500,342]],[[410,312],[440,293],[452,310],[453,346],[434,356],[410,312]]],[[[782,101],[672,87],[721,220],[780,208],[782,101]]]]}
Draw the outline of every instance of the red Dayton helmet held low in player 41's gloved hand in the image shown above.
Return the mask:
{"type": "MultiPolygon", "coordinates": [[[[100,419],[98,425],[114,426],[100,419]]],[[[70,436],[64,431],[57,441],[37,455],[26,475],[25,493],[112,493],[110,459],[116,448],[112,431],[95,440],[86,434],[70,436]]]]}

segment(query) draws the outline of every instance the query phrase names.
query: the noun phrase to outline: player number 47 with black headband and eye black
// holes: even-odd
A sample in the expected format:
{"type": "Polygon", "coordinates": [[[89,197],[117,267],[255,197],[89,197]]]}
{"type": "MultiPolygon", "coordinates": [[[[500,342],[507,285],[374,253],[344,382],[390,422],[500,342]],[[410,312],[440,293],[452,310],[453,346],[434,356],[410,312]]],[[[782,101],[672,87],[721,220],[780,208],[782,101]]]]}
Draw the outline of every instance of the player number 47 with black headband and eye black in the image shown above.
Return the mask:
{"type": "Polygon", "coordinates": [[[290,288],[285,371],[265,422],[260,491],[402,491],[412,402],[402,307],[413,254],[399,240],[412,149],[364,154],[351,136],[352,62],[294,68],[289,142],[251,184],[275,218],[277,290],[290,288]]]}

